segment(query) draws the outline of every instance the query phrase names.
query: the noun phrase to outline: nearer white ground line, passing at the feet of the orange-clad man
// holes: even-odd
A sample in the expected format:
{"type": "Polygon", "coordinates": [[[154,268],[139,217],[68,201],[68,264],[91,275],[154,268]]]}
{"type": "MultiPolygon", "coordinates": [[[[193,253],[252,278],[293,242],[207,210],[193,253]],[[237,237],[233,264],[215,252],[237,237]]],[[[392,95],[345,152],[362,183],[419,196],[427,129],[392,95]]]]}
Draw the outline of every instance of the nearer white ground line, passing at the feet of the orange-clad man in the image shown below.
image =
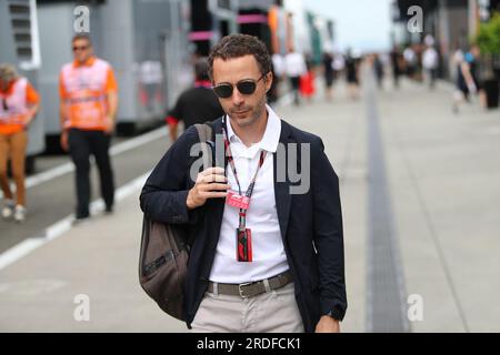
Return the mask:
{"type": "MultiPolygon", "coordinates": [[[[120,202],[126,197],[132,195],[137,191],[139,191],[144,184],[146,179],[149,176],[150,173],[151,172],[147,172],[146,174],[142,174],[141,176],[119,187],[116,192],[117,202],[120,202]]],[[[103,210],[104,210],[104,202],[102,201],[102,199],[97,200],[90,204],[90,211],[92,214],[101,213],[103,210]]],[[[63,235],[66,232],[70,231],[72,227],[73,220],[74,215],[71,214],[49,226],[43,235],[27,239],[21,243],[7,250],[2,254],[0,254],[0,270],[6,268],[10,264],[24,257],[34,250],[39,248],[40,246],[50,243],[51,241],[63,235]]]]}

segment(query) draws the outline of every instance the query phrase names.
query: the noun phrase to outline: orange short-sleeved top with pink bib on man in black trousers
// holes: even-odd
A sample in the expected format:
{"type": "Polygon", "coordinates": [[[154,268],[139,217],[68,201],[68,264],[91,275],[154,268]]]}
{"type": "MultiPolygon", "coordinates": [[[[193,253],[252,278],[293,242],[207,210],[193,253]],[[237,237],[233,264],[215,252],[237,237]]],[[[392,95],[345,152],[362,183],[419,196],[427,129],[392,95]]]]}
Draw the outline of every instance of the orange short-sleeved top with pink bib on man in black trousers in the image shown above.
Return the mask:
{"type": "Polygon", "coordinates": [[[111,65],[91,58],[83,65],[66,64],[60,74],[60,95],[64,102],[64,129],[104,130],[109,92],[117,84],[111,65]]]}

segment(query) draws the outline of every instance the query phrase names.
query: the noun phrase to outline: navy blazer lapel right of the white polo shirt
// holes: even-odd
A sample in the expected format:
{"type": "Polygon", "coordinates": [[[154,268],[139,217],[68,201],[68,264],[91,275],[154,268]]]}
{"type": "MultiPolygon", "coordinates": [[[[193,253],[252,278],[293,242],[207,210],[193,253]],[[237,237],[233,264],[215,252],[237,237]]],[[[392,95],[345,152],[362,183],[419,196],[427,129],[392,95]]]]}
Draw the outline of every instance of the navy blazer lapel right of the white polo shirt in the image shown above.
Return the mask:
{"type": "MultiPolygon", "coordinates": [[[[290,206],[291,206],[291,194],[290,194],[290,181],[288,179],[288,174],[286,174],[284,181],[277,181],[277,165],[278,165],[278,156],[280,159],[284,159],[284,162],[281,162],[280,164],[284,163],[284,168],[288,166],[288,152],[287,146],[290,142],[290,126],[288,123],[286,123],[283,120],[281,120],[281,134],[280,134],[280,145],[278,146],[278,150],[276,153],[273,153],[273,179],[274,179],[274,199],[276,199],[276,209],[278,213],[278,220],[280,224],[280,231],[281,231],[281,237],[286,239],[287,235],[287,229],[288,229],[288,221],[290,217],[290,206]],[[278,152],[284,146],[284,154],[281,152],[279,154],[278,152]]],[[[282,168],[281,168],[282,169],[282,168]]]]}

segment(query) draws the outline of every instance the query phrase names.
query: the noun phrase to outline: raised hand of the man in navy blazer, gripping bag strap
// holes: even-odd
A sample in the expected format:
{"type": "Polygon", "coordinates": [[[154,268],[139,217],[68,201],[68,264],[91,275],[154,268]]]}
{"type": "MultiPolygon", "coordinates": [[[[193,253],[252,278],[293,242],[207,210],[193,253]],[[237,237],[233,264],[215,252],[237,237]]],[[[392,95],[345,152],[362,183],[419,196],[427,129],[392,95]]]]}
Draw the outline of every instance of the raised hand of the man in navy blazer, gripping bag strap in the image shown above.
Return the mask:
{"type": "Polygon", "coordinates": [[[222,168],[209,168],[199,173],[194,186],[188,193],[188,210],[202,206],[207,199],[226,197],[226,191],[231,187],[227,182],[222,168]]]}

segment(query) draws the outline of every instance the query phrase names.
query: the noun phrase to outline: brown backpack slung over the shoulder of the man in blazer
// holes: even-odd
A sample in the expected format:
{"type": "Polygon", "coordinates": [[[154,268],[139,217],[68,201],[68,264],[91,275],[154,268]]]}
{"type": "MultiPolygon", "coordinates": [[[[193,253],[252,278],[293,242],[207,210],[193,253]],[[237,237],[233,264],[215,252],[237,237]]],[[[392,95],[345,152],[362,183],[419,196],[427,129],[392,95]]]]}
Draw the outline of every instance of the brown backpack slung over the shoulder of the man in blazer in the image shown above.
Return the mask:
{"type": "MultiPolygon", "coordinates": [[[[212,136],[209,124],[196,124],[200,142],[212,136]]],[[[211,159],[207,144],[202,144],[203,159],[211,159]]],[[[183,225],[149,220],[142,222],[139,256],[139,282],[160,308],[174,318],[184,321],[184,282],[188,272],[189,244],[183,225]]]]}

